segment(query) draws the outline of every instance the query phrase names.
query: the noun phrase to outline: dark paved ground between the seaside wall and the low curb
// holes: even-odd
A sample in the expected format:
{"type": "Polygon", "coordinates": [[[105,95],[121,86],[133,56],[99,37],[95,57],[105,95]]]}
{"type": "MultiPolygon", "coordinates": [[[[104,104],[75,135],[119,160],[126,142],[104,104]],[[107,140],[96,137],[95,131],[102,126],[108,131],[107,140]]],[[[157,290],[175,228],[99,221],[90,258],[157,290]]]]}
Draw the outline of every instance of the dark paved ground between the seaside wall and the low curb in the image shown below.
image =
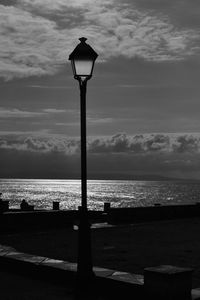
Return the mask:
{"type": "MultiPolygon", "coordinates": [[[[198,288],[199,237],[200,218],[92,229],[93,264],[134,274],[163,264],[193,268],[193,288],[198,288]]],[[[72,228],[2,233],[0,244],[19,252],[77,261],[77,231],[72,228]]]]}

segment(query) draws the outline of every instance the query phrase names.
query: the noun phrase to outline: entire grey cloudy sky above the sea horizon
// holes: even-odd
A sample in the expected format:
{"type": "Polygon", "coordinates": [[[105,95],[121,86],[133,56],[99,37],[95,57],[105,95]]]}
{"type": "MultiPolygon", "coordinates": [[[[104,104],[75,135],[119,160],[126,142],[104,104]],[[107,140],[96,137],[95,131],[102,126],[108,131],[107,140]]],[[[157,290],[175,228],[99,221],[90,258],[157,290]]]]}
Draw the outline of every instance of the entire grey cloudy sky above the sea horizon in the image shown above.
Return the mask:
{"type": "Polygon", "coordinates": [[[79,176],[82,36],[89,177],[200,179],[199,0],[0,0],[0,177],[79,176]]]}

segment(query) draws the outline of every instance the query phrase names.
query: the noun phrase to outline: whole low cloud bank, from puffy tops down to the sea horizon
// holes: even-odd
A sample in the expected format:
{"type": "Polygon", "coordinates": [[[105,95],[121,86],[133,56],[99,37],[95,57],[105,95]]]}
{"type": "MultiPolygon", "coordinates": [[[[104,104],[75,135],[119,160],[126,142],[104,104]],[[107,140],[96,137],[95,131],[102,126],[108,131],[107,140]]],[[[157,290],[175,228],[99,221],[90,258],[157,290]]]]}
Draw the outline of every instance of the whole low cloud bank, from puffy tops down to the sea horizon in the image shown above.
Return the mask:
{"type": "MultiPolygon", "coordinates": [[[[0,176],[17,176],[17,172],[38,178],[41,174],[46,178],[62,178],[72,173],[75,177],[80,176],[80,141],[77,139],[4,135],[0,140],[0,155],[4,157],[5,165],[0,176]],[[32,167],[27,168],[27,164],[32,167]]],[[[198,179],[199,168],[200,134],[128,136],[118,133],[88,141],[88,174],[91,178],[154,174],[198,179]]]]}

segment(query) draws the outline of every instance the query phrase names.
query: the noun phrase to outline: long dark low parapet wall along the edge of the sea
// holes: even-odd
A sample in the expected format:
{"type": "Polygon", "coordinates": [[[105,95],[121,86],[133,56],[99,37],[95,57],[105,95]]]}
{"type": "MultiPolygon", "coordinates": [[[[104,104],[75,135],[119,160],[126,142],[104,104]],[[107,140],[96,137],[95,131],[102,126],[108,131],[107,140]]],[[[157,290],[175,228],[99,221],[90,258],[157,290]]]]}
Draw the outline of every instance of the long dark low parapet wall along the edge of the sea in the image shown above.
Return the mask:
{"type": "MultiPolygon", "coordinates": [[[[89,211],[91,223],[128,224],[192,217],[200,217],[199,204],[109,208],[106,213],[89,211]]],[[[58,228],[78,222],[78,210],[8,211],[0,214],[0,232],[58,228]]]]}

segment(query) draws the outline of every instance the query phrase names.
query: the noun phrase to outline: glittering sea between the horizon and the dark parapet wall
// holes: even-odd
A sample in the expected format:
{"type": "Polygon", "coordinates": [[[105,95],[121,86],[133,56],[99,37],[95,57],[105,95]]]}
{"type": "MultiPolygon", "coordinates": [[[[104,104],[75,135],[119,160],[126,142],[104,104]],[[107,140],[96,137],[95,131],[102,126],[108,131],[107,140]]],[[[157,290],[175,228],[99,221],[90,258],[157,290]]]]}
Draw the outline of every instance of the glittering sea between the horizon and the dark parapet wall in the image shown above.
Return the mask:
{"type": "MultiPolygon", "coordinates": [[[[111,207],[200,202],[198,181],[88,180],[87,190],[91,210],[103,210],[105,202],[111,207]]],[[[80,180],[0,179],[0,192],[10,208],[19,208],[23,199],[35,209],[52,209],[53,201],[60,202],[60,209],[81,205],[80,180]]]]}

